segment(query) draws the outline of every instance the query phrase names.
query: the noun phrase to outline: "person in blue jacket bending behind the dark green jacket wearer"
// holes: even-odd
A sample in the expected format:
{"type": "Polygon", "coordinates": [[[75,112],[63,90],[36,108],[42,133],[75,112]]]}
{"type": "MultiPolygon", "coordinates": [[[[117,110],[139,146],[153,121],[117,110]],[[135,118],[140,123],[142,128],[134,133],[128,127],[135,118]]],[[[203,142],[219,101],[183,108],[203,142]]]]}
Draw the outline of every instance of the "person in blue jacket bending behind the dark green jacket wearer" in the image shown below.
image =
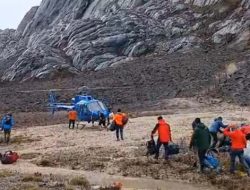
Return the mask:
{"type": "MultiPolygon", "coordinates": [[[[211,148],[216,147],[216,144],[218,142],[217,133],[218,132],[222,133],[221,128],[227,127],[227,125],[224,125],[222,121],[223,121],[222,117],[216,118],[209,128],[209,132],[210,132],[211,136],[213,137],[213,144],[212,144],[211,148]]],[[[225,140],[225,138],[221,141],[221,143],[219,144],[219,147],[222,146],[222,143],[224,142],[224,140],[225,140]]]]}

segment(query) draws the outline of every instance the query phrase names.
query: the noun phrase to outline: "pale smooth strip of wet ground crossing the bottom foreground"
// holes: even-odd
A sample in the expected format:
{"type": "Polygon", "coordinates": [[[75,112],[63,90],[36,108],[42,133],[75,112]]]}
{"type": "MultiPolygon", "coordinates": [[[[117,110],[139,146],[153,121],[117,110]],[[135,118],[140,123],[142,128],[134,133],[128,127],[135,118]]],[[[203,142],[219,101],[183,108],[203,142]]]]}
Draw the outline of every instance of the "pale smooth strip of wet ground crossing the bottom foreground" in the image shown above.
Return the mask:
{"type": "Polygon", "coordinates": [[[164,181],[152,178],[131,178],[122,176],[112,176],[100,172],[70,170],[66,168],[38,167],[27,162],[18,162],[14,165],[1,165],[0,169],[8,169],[20,173],[34,174],[35,172],[44,175],[53,174],[61,176],[85,176],[91,184],[109,186],[114,182],[121,182],[124,190],[214,190],[211,186],[201,186],[184,183],[183,181],[164,181]]]}

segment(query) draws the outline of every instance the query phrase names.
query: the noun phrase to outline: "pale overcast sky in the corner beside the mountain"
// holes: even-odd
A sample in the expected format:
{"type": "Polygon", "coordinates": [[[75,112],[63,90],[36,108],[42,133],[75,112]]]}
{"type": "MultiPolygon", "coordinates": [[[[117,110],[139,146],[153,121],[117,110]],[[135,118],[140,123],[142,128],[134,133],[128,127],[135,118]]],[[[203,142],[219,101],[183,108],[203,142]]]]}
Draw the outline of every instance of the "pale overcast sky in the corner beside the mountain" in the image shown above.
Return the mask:
{"type": "Polygon", "coordinates": [[[34,5],[42,0],[0,0],[0,29],[14,28],[34,5]]]}

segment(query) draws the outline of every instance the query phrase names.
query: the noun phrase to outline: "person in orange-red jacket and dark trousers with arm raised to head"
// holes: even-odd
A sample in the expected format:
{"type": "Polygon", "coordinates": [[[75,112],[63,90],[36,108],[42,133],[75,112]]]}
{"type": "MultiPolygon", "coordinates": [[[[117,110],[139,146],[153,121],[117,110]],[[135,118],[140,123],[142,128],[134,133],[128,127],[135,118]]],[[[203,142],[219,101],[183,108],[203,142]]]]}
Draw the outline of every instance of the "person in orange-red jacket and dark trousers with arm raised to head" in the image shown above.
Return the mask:
{"type": "Polygon", "coordinates": [[[246,163],[243,155],[244,148],[247,146],[247,140],[245,134],[237,127],[237,125],[230,125],[224,130],[224,135],[228,136],[231,139],[231,165],[230,165],[230,173],[234,174],[235,171],[235,159],[239,158],[240,163],[245,167],[247,171],[247,175],[250,176],[250,169],[248,164],[246,163]]]}

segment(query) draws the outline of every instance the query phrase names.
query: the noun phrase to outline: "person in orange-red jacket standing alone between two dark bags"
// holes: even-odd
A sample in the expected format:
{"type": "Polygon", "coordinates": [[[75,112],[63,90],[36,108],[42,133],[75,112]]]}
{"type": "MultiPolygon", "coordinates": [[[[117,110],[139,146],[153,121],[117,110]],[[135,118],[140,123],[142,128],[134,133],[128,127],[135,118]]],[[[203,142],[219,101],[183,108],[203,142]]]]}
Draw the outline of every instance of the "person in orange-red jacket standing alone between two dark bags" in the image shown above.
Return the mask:
{"type": "Polygon", "coordinates": [[[156,133],[156,131],[158,131],[158,141],[156,145],[155,159],[159,158],[159,151],[161,145],[163,144],[165,149],[165,160],[168,160],[168,143],[172,141],[171,130],[169,124],[166,123],[162,116],[158,117],[158,123],[151,133],[151,138],[153,138],[153,135],[156,133]]]}

